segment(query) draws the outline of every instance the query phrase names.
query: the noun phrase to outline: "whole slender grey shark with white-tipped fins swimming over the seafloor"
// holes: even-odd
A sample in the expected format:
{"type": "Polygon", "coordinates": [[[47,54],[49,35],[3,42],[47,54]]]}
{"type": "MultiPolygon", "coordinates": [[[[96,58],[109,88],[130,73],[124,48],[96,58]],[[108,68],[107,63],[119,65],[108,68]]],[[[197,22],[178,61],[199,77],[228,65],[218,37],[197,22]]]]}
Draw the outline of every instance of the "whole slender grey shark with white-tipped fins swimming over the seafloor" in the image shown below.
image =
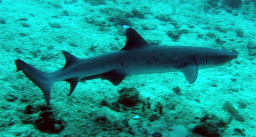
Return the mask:
{"type": "Polygon", "coordinates": [[[101,78],[117,86],[127,75],[136,74],[180,71],[192,84],[198,69],[218,67],[238,57],[234,52],[206,47],[150,45],[132,27],[123,28],[126,44],[120,51],[80,59],[62,50],[66,59],[64,67],[50,73],[16,59],[16,72],[22,70],[43,91],[46,104],[50,105],[51,86],[57,81],[70,84],[68,95],[79,81],[101,78]]]}

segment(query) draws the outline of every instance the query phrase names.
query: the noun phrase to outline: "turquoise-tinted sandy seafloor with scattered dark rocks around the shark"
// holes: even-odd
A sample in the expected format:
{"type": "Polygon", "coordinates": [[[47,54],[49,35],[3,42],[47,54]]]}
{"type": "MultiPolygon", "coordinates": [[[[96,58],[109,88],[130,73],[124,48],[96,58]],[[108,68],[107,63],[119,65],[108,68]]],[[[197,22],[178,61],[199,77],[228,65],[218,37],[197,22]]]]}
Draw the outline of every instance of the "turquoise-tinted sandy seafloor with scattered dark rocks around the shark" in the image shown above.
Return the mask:
{"type": "Polygon", "coordinates": [[[223,0],[0,0],[0,136],[255,137],[255,18],[254,0],[238,6],[223,0]],[[199,70],[191,85],[181,72],[143,74],[118,86],[79,82],[66,96],[69,84],[56,82],[50,110],[42,91],[15,73],[16,58],[53,72],[64,66],[61,50],[79,58],[118,51],[126,41],[122,25],[159,46],[209,47],[239,57],[199,70]],[[174,39],[171,31],[186,33],[174,39]],[[135,88],[140,101],[120,104],[122,88],[135,88]],[[195,133],[199,125],[206,134],[195,133]]]}

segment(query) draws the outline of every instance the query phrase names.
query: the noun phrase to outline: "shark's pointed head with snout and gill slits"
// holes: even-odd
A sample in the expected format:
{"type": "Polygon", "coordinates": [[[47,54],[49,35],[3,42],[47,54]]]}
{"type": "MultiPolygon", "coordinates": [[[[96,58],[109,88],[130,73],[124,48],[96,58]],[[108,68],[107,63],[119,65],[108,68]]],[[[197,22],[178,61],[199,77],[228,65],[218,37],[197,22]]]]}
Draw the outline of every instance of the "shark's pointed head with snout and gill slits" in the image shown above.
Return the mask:
{"type": "Polygon", "coordinates": [[[204,64],[206,68],[208,67],[218,67],[233,59],[238,57],[237,53],[221,51],[216,49],[211,49],[211,52],[205,53],[204,57],[196,57],[198,64],[204,64]]]}

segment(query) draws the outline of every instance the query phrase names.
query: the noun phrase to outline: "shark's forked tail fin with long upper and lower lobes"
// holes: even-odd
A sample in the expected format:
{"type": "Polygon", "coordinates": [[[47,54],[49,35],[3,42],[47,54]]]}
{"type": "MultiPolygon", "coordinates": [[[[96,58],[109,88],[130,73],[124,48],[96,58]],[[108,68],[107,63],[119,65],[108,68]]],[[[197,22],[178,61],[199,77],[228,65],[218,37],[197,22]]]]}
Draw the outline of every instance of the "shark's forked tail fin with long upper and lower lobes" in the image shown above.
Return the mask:
{"type": "Polygon", "coordinates": [[[47,105],[50,105],[50,92],[52,86],[51,74],[38,70],[20,59],[15,61],[17,70],[22,72],[44,92],[47,105]]]}

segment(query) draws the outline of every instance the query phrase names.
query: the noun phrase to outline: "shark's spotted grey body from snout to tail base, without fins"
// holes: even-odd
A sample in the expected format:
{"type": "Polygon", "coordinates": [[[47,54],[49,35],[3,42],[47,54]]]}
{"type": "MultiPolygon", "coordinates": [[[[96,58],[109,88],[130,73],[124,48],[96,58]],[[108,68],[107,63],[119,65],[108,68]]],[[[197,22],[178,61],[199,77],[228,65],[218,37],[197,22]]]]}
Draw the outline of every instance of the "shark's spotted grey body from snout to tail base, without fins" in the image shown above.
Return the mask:
{"type": "Polygon", "coordinates": [[[145,48],[78,59],[74,65],[52,74],[56,82],[73,77],[82,79],[111,70],[120,70],[126,75],[176,72],[184,64],[196,63],[195,57],[207,59],[207,63],[198,63],[199,69],[202,69],[218,67],[236,58],[237,54],[205,47],[148,45],[145,48]]]}

